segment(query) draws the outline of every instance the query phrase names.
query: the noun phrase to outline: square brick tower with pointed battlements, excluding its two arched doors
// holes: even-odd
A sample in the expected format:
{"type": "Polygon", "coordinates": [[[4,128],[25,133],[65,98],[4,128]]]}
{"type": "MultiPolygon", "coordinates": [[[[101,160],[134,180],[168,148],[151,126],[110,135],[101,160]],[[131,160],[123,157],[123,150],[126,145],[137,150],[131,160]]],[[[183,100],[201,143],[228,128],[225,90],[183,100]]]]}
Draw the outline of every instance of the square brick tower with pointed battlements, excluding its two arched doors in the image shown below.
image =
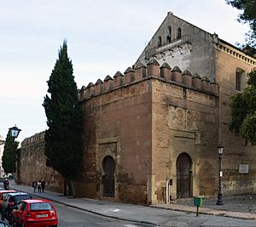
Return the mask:
{"type": "Polygon", "coordinates": [[[79,196],[158,203],[166,201],[163,190],[172,179],[170,196],[175,199],[176,159],[183,152],[193,161],[192,194],[216,193],[212,184],[218,165],[210,163],[218,161],[213,153],[218,144],[217,83],[151,59],[124,75],[118,71],[103,82],[90,82],[79,91],[79,100],[85,141],[75,184],[79,196]],[[115,163],[113,198],[103,196],[106,156],[115,163]]]}

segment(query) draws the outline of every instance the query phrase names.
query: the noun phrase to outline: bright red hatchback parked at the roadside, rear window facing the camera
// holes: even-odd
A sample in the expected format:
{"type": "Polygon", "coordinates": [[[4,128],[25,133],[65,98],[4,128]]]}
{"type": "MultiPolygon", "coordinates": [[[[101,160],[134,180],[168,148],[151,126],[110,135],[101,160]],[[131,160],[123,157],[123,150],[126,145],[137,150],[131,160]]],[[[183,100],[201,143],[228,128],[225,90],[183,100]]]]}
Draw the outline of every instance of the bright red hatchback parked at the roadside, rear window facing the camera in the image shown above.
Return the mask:
{"type": "Polygon", "coordinates": [[[13,210],[11,222],[22,227],[58,226],[58,217],[51,201],[22,200],[13,210]]]}

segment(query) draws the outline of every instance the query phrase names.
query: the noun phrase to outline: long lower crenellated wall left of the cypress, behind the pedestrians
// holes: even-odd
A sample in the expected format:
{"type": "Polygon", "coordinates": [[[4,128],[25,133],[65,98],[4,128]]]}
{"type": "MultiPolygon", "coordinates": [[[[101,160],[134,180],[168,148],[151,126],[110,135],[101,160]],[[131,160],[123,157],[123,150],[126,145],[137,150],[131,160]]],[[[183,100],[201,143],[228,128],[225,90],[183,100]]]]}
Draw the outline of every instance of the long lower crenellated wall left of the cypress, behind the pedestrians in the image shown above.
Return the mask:
{"type": "Polygon", "coordinates": [[[32,185],[34,179],[44,179],[45,190],[62,192],[63,180],[53,168],[45,165],[44,132],[36,133],[22,141],[18,154],[15,179],[20,184],[32,185]]]}

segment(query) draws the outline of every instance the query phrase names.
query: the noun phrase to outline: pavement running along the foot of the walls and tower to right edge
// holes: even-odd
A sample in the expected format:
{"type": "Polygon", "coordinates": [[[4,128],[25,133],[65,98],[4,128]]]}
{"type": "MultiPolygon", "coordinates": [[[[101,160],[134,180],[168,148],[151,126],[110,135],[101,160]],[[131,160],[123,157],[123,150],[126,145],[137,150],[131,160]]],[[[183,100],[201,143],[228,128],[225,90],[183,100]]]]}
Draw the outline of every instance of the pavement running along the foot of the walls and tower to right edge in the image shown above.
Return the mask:
{"type": "Polygon", "coordinates": [[[203,207],[200,207],[200,215],[196,217],[196,208],[192,200],[148,207],[122,202],[74,198],[51,191],[34,193],[32,187],[18,185],[14,181],[10,182],[10,186],[12,189],[26,191],[32,196],[43,197],[69,207],[137,223],[155,224],[157,226],[163,226],[164,224],[165,226],[190,226],[178,225],[181,221],[185,222],[188,219],[193,224],[198,222],[199,225],[193,226],[256,226],[256,196],[254,195],[248,196],[248,198],[246,196],[237,196],[236,199],[224,198],[224,206],[216,206],[214,200],[205,200],[203,207]],[[251,212],[247,212],[247,203],[251,207],[251,212]],[[254,209],[253,204],[255,204],[254,209]]]}

